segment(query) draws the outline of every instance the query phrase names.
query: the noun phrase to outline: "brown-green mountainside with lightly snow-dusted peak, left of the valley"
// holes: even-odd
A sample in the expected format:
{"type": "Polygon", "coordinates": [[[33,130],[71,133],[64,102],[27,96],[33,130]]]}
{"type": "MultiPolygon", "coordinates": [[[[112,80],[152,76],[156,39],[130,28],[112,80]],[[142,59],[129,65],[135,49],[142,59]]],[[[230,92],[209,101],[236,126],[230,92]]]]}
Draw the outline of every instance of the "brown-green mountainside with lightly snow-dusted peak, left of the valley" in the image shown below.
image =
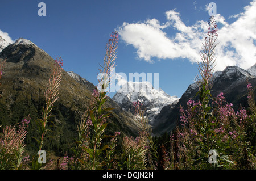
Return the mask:
{"type": "MultiPolygon", "coordinates": [[[[42,115],[45,104],[44,92],[47,89],[54,60],[34,43],[26,39],[18,39],[0,53],[0,61],[6,58],[6,66],[2,75],[0,87],[0,125],[16,124],[30,115],[27,144],[32,148],[36,137],[36,117],[42,115]]],[[[75,74],[75,73],[74,73],[75,74]]],[[[78,77],[78,76],[77,76],[78,77]]],[[[43,149],[64,153],[75,141],[77,124],[86,110],[88,101],[95,86],[63,70],[59,99],[53,108],[55,127],[48,136],[43,149]]],[[[133,115],[123,111],[118,104],[109,98],[106,106],[115,108],[109,118],[108,133],[115,131],[128,135],[136,133],[133,115]]],[[[2,131],[3,127],[0,127],[2,131]]]]}

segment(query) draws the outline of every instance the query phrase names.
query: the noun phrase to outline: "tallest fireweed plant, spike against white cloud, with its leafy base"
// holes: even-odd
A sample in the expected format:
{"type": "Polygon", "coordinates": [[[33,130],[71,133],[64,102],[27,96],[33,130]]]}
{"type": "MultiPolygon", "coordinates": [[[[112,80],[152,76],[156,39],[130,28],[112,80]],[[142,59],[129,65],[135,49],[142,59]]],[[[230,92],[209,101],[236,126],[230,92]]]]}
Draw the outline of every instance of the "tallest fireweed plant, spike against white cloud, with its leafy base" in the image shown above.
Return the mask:
{"type": "MultiPolygon", "coordinates": [[[[217,134],[214,134],[214,129],[218,127],[218,121],[214,116],[214,108],[210,106],[209,101],[212,100],[210,89],[213,82],[213,71],[216,58],[214,58],[214,49],[217,46],[217,25],[213,16],[208,23],[208,33],[205,37],[203,47],[201,49],[201,62],[199,63],[199,73],[196,83],[199,86],[199,100],[195,103],[193,100],[188,100],[188,109],[184,111],[180,107],[181,128],[177,129],[174,141],[178,141],[175,146],[175,155],[180,154],[179,167],[185,169],[211,169],[208,163],[209,150],[216,149],[218,153],[224,153],[223,147],[220,146],[217,134]],[[217,140],[217,141],[216,141],[217,140]],[[181,165],[181,163],[184,163],[181,165]]],[[[225,157],[225,155],[224,155],[225,157]]],[[[226,159],[226,157],[225,157],[226,159]]],[[[175,169],[178,169],[175,163],[175,169]]],[[[216,165],[213,165],[214,167],[216,165]]]]}

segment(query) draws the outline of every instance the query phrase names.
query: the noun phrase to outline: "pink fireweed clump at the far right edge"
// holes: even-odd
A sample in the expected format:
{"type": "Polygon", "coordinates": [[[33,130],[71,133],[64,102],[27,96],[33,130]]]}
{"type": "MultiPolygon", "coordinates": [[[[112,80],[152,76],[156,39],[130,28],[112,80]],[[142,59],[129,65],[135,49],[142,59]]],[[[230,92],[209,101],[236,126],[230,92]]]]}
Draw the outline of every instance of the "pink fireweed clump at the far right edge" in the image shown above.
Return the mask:
{"type": "Polygon", "coordinates": [[[230,133],[232,136],[237,136],[235,144],[232,145],[237,169],[256,169],[256,115],[253,88],[250,83],[247,85],[247,92],[250,115],[245,108],[240,107],[234,120],[236,133],[230,133]]]}

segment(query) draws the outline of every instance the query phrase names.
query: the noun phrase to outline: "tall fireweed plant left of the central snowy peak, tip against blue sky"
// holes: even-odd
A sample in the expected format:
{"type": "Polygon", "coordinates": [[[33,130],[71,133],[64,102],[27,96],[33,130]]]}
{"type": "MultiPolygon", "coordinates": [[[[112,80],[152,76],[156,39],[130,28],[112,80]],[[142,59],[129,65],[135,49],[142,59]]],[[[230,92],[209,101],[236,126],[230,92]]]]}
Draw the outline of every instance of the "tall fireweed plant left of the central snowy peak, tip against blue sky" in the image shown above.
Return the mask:
{"type": "Polygon", "coordinates": [[[106,44],[106,54],[104,57],[104,64],[100,65],[100,75],[98,81],[100,87],[94,90],[92,100],[89,103],[84,118],[79,125],[79,135],[76,142],[76,147],[73,148],[75,153],[75,167],[76,169],[102,169],[106,166],[111,167],[109,157],[114,152],[115,137],[104,135],[104,131],[108,125],[106,118],[110,116],[110,110],[113,108],[104,108],[104,103],[108,100],[106,91],[110,86],[110,70],[114,68],[116,53],[118,47],[118,33],[113,32],[106,44]],[[102,139],[113,137],[110,145],[103,145],[102,139]],[[108,149],[108,150],[107,150],[108,149]],[[102,157],[104,151],[108,154],[106,158],[102,157]],[[85,155],[88,155],[85,157],[85,155]]]}

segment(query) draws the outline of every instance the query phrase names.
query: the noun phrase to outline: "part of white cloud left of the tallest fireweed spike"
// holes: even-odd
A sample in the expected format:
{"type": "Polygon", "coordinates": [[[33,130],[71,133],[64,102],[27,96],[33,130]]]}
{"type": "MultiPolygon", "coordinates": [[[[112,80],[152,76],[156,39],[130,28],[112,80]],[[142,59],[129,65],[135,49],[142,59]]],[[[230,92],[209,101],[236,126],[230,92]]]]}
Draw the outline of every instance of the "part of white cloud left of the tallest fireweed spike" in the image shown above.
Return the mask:
{"type": "Polygon", "coordinates": [[[131,44],[137,49],[138,57],[147,62],[152,62],[152,57],[160,59],[192,57],[192,60],[196,61],[199,55],[195,53],[193,48],[199,49],[200,47],[195,47],[197,46],[196,44],[190,44],[187,39],[191,39],[192,42],[199,39],[197,37],[193,38],[193,36],[199,34],[193,32],[193,29],[201,28],[200,23],[195,24],[193,27],[185,26],[180,20],[179,13],[175,10],[167,11],[166,18],[168,21],[164,24],[160,24],[156,19],[146,20],[144,23],[129,24],[124,22],[119,27],[119,33],[127,44],[131,44]],[[163,31],[164,28],[169,26],[181,31],[181,33],[176,34],[174,39],[168,37],[163,31]],[[184,49],[187,52],[184,52],[184,49]]]}

